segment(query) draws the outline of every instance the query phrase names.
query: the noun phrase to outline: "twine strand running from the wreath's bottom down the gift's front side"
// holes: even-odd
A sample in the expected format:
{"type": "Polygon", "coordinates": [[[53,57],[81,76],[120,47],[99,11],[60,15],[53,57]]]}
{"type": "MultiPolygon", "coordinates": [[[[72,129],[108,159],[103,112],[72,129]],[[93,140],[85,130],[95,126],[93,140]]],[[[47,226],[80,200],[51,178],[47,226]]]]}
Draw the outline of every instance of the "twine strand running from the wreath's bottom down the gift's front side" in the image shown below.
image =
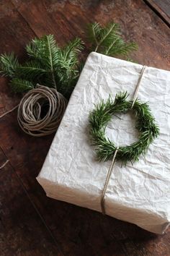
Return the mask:
{"type": "Polygon", "coordinates": [[[107,173],[107,178],[106,178],[106,181],[105,181],[105,184],[104,184],[104,189],[102,191],[102,197],[101,197],[101,209],[102,209],[102,213],[105,214],[105,207],[104,207],[104,197],[105,197],[105,194],[106,194],[106,191],[107,191],[107,186],[109,184],[109,178],[112,174],[112,169],[113,169],[113,166],[115,164],[115,158],[116,158],[116,155],[117,155],[117,151],[118,151],[119,148],[116,148],[115,150],[115,153],[113,155],[113,158],[112,158],[112,163],[111,165],[109,166],[109,171],[107,173]]]}

